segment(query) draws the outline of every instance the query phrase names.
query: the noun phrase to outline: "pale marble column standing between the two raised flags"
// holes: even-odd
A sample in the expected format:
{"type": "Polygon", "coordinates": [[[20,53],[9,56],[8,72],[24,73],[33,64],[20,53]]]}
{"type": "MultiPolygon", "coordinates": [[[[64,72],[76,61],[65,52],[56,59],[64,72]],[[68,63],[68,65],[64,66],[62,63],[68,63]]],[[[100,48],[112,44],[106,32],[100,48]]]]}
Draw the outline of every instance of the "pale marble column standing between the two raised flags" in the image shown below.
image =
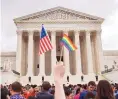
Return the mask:
{"type": "Polygon", "coordinates": [[[51,32],[51,43],[53,49],[51,50],[51,75],[54,73],[54,66],[56,65],[56,32],[51,32]]]}

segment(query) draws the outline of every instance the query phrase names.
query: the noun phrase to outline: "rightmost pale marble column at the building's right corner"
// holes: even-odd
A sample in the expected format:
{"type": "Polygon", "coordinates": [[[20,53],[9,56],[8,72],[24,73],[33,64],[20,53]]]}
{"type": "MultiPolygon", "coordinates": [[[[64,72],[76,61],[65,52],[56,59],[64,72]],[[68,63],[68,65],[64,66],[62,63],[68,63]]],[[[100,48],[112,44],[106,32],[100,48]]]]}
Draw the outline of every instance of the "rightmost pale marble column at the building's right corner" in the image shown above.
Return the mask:
{"type": "Polygon", "coordinates": [[[103,67],[103,50],[101,43],[101,31],[96,32],[95,36],[95,52],[96,52],[96,66],[97,72],[101,72],[101,67],[103,67]]]}

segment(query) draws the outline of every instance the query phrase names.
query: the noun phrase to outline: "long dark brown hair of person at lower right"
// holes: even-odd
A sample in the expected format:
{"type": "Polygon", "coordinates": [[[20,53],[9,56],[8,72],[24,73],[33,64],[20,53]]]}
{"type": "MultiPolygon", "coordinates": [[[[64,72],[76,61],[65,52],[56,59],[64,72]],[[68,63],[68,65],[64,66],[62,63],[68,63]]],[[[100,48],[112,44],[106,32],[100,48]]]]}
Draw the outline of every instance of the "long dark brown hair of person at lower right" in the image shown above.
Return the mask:
{"type": "Polygon", "coordinates": [[[98,99],[113,99],[113,90],[107,80],[100,80],[97,86],[98,99]]]}

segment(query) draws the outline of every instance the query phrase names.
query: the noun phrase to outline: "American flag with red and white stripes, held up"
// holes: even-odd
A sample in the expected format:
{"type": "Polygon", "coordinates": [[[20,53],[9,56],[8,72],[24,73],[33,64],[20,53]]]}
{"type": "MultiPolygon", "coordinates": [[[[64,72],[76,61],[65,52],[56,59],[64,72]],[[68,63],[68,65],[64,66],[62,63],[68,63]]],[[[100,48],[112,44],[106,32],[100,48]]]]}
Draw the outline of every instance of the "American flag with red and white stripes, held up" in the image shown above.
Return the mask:
{"type": "Polygon", "coordinates": [[[50,38],[48,33],[46,32],[44,26],[42,25],[41,33],[40,33],[40,42],[39,42],[39,55],[45,53],[48,50],[51,50],[52,44],[50,42],[50,38]]]}

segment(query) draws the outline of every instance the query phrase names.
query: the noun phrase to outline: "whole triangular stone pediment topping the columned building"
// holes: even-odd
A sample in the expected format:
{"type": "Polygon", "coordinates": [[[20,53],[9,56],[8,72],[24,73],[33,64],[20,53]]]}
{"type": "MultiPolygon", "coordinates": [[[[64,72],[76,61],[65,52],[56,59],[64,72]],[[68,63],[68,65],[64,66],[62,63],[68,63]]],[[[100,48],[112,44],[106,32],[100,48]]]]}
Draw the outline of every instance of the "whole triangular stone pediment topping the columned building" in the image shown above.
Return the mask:
{"type": "Polygon", "coordinates": [[[103,18],[92,16],[89,14],[81,13],[71,9],[63,7],[55,7],[48,10],[40,11],[33,13],[27,16],[14,19],[15,22],[23,21],[51,21],[51,20],[100,20],[103,21],[103,18]]]}

